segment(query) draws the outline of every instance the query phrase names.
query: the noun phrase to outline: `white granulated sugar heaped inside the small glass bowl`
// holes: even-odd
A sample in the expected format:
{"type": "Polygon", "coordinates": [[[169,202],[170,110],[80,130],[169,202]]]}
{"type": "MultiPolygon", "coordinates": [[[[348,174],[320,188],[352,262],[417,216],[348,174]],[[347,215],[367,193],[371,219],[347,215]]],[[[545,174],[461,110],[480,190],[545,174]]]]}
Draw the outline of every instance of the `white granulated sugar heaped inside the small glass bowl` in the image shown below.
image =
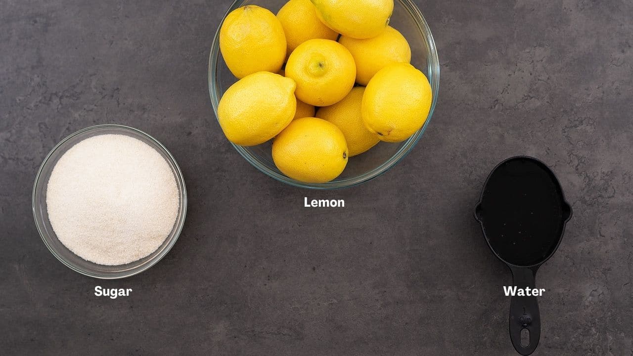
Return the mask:
{"type": "Polygon", "coordinates": [[[104,134],[61,156],[46,205],[69,250],[96,264],[123,265],[163,244],[176,221],[179,191],[156,149],[134,137],[104,134]]]}

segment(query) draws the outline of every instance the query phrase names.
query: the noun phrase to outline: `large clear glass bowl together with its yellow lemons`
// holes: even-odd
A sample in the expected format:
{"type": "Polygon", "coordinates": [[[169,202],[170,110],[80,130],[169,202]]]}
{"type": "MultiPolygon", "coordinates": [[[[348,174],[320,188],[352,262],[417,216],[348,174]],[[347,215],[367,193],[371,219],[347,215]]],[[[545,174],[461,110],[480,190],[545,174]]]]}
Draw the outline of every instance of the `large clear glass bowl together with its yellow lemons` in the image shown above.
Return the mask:
{"type": "Polygon", "coordinates": [[[439,60],[410,0],[237,0],[215,34],[211,103],[261,172],[356,186],[406,156],[430,122],[439,60]]]}

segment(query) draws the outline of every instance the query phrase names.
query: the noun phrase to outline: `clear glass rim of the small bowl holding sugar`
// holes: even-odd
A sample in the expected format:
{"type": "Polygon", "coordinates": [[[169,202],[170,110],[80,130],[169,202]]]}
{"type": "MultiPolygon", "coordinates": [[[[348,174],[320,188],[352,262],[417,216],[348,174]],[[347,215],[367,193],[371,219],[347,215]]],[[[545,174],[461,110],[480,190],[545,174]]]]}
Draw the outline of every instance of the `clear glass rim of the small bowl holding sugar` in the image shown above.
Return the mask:
{"type": "MultiPolygon", "coordinates": [[[[51,251],[53,256],[56,257],[58,260],[60,260],[60,262],[62,264],[66,265],[66,267],[74,270],[75,272],[83,274],[84,276],[89,276],[89,277],[94,277],[94,278],[99,278],[99,279],[122,279],[122,278],[135,276],[135,275],[137,275],[137,274],[139,274],[141,272],[144,272],[147,269],[153,267],[160,260],[162,260],[163,257],[165,257],[165,255],[167,255],[167,253],[170,250],[172,250],[173,245],[175,245],[176,241],[180,237],[180,232],[182,232],[182,228],[184,227],[184,223],[185,223],[185,217],[187,215],[187,188],[185,186],[185,180],[184,180],[184,177],[182,175],[182,171],[180,170],[180,167],[179,167],[178,163],[176,162],[175,158],[172,156],[172,153],[170,153],[170,151],[165,146],[163,146],[163,144],[161,144],[160,141],[155,139],[153,136],[147,134],[146,132],[143,132],[142,130],[135,129],[134,127],[129,127],[129,126],[125,126],[125,125],[118,125],[118,124],[94,125],[94,126],[90,126],[90,127],[85,127],[84,129],[80,129],[80,130],[75,131],[72,134],[66,136],[58,144],[56,144],[53,147],[53,149],[51,149],[51,151],[49,151],[49,153],[46,155],[46,157],[42,161],[42,164],[40,165],[39,169],[37,170],[37,175],[35,175],[35,182],[33,184],[33,193],[32,193],[32,196],[31,196],[31,207],[32,207],[32,210],[33,210],[33,218],[35,220],[35,227],[37,227],[37,232],[39,233],[40,238],[42,239],[42,241],[44,241],[44,245],[46,245],[46,248],[48,248],[48,250],[51,251]],[[43,178],[42,177],[42,172],[44,170],[44,167],[46,167],[47,163],[49,163],[49,160],[51,159],[53,154],[56,153],[56,151],[58,151],[58,149],[62,148],[64,146],[64,144],[66,144],[70,139],[72,139],[74,137],[77,137],[79,135],[85,134],[87,132],[91,132],[91,131],[94,131],[94,130],[100,130],[100,129],[117,129],[117,130],[133,132],[135,134],[139,134],[141,136],[144,136],[146,139],[149,139],[149,141],[151,141],[154,144],[156,144],[158,146],[158,148],[160,148],[163,151],[163,153],[165,153],[165,155],[168,157],[168,159],[171,160],[171,163],[173,163],[173,167],[175,167],[175,179],[177,181],[177,184],[182,185],[182,194],[180,194],[180,201],[181,201],[180,204],[181,204],[181,206],[179,207],[179,213],[182,211],[182,214],[180,214],[181,215],[180,219],[175,223],[175,229],[172,230],[173,236],[172,236],[172,238],[170,238],[170,241],[168,241],[168,243],[165,246],[165,248],[163,248],[163,250],[158,255],[154,256],[153,258],[151,258],[151,260],[148,260],[144,264],[142,264],[140,266],[137,266],[137,267],[132,267],[132,268],[130,268],[128,270],[128,272],[124,272],[123,274],[116,274],[116,275],[112,275],[112,276],[108,275],[107,272],[106,272],[106,274],[94,274],[92,272],[89,272],[87,270],[84,270],[84,269],[81,269],[80,267],[75,266],[74,264],[68,262],[65,258],[63,258],[57,252],[57,250],[55,248],[53,248],[53,246],[49,243],[49,241],[47,241],[47,237],[45,236],[46,234],[44,234],[44,232],[42,231],[42,228],[41,228],[41,224],[43,224],[44,222],[40,221],[37,218],[37,213],[36,213],[36,210],[35,210],[35,201],[37,199],[37,195],[36,195],[37,184],[43,178]]],[[[171,232],[170,232],[170,234],[171,234],[171,232]]],[[[130,262],[130,264],[134,264],[134,262],[130,262]]]]}

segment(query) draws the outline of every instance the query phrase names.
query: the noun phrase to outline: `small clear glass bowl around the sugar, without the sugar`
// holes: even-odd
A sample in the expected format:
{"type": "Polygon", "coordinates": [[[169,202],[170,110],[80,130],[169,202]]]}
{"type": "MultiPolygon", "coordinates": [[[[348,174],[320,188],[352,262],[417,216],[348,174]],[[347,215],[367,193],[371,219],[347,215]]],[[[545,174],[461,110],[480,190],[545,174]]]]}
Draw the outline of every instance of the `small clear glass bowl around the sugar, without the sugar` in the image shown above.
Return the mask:
{"type": "Polygon", "coordinates": [[[182,172],[180,172],[180,168],[173,156],[169,153],[169,151],[167,151],[165,146],[154,139],[154,137],[149,136],[141,130],[133,129],[132,127],[122,125],[97,125],[79,130],[66,137],[58,143],[55,148],[53,148],[46,158],[44,158],[44,162],[42,162],[39,172],[37,172],[37,176],[35,177],[32,203],[37,231],[39,231],[46,247],[55,257],[57,257],[58,260],[70,267],[70,269],[73,269],[81,274],[85,274],[86,276],[102,279],[116,279],[134,276],[135,274],[143,272],[160,261],[161,258],[165,257],[169,250],[172,249],[172,246],[176,243],[176,240],[180,236],[180,231],[182,231],[182,226],[185,222],[185,215],[187,213],[187,191],[185,189],[182,172]],[[49,178],[51,177],[51,172],[53,172],[53,168],[58,160],[60,160],[61,156],[80,141],[83,141],[88,137],[103,134],[119,134],[134,137],[135,139],[139,139],[156,149],[156,151],[165,158],[169,167],[172,168],[180,197],[179,212],[176,216],[176,222],[173,226],[172,232],[170,232],[169,236],[167,236],[165,241],[163,241],[163,244],[158,248],[158,250],[151,253],[151,255],[125,265],[99,265],[75,255],[75,253],[68,250],[68,248],[66,248],[66,246],[64,246],[57,238],[57,235],[51,226],[51,222],[48,219],[46,209],[47,184],[49,178]]]}

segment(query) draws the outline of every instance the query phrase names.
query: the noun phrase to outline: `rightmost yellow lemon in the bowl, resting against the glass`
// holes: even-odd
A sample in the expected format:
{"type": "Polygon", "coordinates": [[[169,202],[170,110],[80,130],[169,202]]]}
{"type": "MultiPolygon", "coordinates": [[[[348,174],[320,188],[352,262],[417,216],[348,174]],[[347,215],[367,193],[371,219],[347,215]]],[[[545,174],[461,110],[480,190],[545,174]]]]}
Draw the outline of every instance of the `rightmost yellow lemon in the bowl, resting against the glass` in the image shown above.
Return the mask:
{"type": "Polygon", "coordinates": [[[367,84],[361,104],[363,122],[382,141],[404,141],[426,122],[432,96],[422,72],[408,63],[392,63],[367,84]]]}

